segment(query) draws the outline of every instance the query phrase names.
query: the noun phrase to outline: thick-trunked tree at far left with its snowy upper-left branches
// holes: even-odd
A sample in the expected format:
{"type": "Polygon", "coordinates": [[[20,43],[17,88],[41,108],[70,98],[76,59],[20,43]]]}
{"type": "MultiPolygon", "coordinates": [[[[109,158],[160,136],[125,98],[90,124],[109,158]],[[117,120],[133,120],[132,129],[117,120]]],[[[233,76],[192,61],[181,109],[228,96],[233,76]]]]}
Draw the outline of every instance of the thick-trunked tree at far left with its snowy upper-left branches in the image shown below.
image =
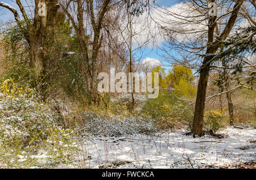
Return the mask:
{"type": "MultiPolygon", "coordinates": [[[[46,93],[47,86],[45,76],[47,74],[47,65],[49,61],[50,43],[54,36],[50,35],[53,32],[57,10],[59,8],[58,0],[35,0],[34,1],[34,16],[32,20],[28,18],[26,9],[23,7],[20,0],[16,0],[23,19],[20,18],[18,10],[11,5],[0,2],[0,6],[7,8],[13,12],[16,23],[20,28],[25,28],[27,31],[26,40],[30,46],[30,67],[36,72],[36,76],[42,81],[42,95],[46,93]],[[25,22],[23,27],[22,21],[25,22]]],[[[31,5],[31,7],[33,7],[31,5]]]]}

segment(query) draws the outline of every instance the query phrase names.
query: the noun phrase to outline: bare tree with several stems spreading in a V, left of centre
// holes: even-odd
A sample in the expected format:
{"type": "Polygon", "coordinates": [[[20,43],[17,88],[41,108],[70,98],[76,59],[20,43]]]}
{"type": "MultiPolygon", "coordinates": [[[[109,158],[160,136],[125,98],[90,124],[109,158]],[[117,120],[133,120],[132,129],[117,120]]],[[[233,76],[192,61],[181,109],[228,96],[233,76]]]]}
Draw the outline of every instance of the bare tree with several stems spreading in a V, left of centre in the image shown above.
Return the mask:
{"type": "Polygon", "coordinates": [[[98,53],[102,45],[104,34],[104,20],[113,0],[68,0],[61,1],[60,6],[75,29],[79,39],[82,57],[85,63],[85,79],[90,90],[92,100],[97,99],[97,66],[98,53]],[[75,13],[72,13],[75,10],[75,13]]]}

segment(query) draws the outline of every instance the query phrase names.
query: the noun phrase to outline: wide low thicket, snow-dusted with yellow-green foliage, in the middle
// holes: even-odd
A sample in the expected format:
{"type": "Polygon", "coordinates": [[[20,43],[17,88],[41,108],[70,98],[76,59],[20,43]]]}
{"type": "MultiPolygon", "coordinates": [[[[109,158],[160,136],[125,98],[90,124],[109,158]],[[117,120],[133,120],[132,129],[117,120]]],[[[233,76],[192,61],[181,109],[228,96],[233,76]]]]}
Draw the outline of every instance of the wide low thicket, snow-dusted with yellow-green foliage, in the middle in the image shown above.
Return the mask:
{"type": "MultiPolygon", "coordinates": [[[[129,108],[130,96],[118,96],[109,103],[92,105],[69,115],[79,129],[93,135],[126,136],[131,134],[153,135],[170,128],[183,126],[192,117],[184,101],[171,94],[161,94],[156,99],[135,95],[139,103],[129,108]]],[[[76,125],[75,125],[76,126],[76,125]]]]}

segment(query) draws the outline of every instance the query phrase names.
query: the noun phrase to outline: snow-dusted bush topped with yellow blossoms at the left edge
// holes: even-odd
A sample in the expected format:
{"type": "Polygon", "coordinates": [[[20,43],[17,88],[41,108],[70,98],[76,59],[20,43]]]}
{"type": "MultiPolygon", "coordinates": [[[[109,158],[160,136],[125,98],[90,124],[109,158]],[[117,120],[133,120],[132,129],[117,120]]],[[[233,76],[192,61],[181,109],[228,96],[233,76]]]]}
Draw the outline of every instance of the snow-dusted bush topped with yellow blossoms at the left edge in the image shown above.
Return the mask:
{"type": "Polygon", "coordinates": [[[35,100],[33,91],[20,88],[13,80],[2,82],[0,94],[1,142],[8,145],[36,145],[48,136],[52,117],[44,104],[35,100]]]}

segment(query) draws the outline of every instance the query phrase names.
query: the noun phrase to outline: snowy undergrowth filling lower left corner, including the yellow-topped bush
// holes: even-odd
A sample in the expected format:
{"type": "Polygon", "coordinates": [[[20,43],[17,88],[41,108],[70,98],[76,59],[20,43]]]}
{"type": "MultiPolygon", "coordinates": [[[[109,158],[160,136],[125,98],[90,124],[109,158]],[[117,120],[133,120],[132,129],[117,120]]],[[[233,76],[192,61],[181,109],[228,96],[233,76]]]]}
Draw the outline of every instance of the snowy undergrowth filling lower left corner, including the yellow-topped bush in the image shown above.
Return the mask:
{"type": "Polygon", "coordinates": [[[0,87],[0,167],[31,168],[71,164],[78,152],[73,132],[59,114],[28,87],[8,79],[0,87]]]}

